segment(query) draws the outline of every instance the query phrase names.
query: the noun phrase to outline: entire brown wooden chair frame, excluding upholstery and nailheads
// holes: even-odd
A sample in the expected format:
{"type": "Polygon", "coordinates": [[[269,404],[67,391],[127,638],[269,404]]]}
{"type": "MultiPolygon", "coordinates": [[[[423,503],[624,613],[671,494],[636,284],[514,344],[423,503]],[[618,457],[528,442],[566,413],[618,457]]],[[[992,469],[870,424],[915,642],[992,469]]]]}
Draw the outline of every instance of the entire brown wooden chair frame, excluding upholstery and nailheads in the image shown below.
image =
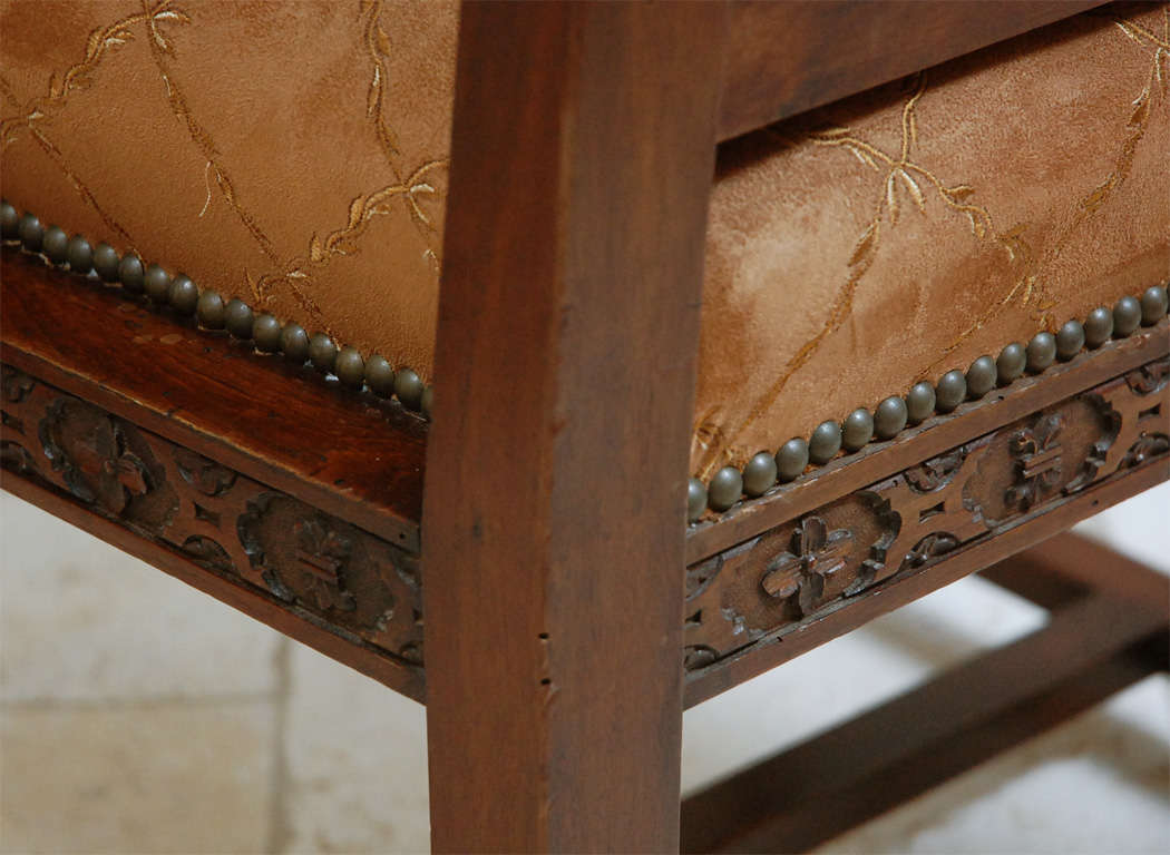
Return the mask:
{"type": "Polygon", "coordinates": [[[425,702],[436,851],[814,846],[1166,667],[1165,580],[1053,536],[1170,476],[1170,336],[688,529],[716,145],[1092,5],[467,4],[433,423],[6,247],[4,487],[425,702]],[[720,654],[853,525],[888,578],[720,654]],[[684,706],[989,567],[1045,630],[680,822],[684,706]]]}

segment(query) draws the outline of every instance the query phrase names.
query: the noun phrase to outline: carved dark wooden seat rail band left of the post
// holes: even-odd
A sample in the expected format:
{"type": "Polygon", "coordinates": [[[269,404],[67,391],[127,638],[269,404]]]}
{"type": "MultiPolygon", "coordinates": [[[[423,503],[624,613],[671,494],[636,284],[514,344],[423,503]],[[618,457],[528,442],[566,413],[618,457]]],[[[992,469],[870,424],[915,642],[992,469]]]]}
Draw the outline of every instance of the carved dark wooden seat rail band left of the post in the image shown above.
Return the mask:
{"type": "Polygon", "coordinates": [[[0,392],[4,489],[422,699],[415,554],[11,365],[0,392]]]}

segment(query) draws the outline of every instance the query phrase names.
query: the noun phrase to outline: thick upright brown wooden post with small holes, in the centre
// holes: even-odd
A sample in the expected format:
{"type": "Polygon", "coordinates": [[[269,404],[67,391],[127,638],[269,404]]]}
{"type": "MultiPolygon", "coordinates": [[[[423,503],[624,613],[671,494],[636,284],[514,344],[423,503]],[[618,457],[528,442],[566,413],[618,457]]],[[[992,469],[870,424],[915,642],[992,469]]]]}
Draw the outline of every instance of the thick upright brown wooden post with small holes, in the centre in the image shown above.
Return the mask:
{"type": "Polygon", "coordinates": [[[677,848],[723,12],[462,7],[424,508],[435,851],[677,848]]]}

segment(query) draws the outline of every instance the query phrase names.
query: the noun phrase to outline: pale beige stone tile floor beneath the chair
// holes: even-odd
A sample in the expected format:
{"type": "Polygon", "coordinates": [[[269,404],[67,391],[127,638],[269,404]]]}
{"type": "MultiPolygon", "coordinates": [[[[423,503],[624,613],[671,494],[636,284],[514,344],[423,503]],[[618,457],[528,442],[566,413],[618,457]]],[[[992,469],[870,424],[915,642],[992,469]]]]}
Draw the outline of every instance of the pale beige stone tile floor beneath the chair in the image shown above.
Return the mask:
{"type": "MultiPolygon", "coordinates": [[[[1089,532],[1170,572],[1170,488],[1089,532]]],[[[688,790],[1038,627],[968,579],[686,715],[688,790]]],[[[0,851],[427,848],[422,708],[0,494],[0,851]]],[[[1170,681],[823,848],[1170,851],[1170,681]]]]}

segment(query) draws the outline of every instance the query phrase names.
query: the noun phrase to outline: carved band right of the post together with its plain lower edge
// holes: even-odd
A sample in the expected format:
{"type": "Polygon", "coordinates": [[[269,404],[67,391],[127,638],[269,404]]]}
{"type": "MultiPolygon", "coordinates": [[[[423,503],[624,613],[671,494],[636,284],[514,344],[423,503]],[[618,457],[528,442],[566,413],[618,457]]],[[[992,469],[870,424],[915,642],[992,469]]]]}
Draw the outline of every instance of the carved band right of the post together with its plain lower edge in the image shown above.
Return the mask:
{"type": "Polygon", "coordinates": [[[687,705],[1170,478],[1170,358],[687,570],[687,705]]]}

